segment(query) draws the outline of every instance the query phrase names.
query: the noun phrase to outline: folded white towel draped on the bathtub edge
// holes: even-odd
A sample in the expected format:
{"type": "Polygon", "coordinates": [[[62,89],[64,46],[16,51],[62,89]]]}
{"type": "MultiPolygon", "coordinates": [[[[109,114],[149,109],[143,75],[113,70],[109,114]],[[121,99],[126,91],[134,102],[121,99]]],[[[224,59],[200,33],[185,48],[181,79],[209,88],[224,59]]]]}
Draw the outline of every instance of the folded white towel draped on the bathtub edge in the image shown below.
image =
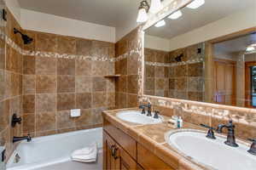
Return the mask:
{"type": "Polygon", "coordinates": [[[91,162],[96,161],[97,157],[97,144],[91,144],[90,147],[81,150],[74,150],[71,159],[72,161],[91,162]]]}

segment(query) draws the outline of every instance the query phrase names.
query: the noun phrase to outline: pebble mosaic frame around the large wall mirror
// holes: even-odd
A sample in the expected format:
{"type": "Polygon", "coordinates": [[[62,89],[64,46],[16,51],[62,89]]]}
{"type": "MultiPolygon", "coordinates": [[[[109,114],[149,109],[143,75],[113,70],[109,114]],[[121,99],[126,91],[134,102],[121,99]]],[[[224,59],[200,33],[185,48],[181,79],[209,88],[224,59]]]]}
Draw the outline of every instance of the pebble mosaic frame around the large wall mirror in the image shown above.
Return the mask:
{"type": "MultiPolygon", "coordinates": [[[[233,106],[233,105],[220,105],[220,104],[214,104],[214,103],[207,103],[207,102],[200,102],[200,101],[193,101],[188,99],[174,99],[174,98],[166,98],[166,97],[160,97],[160,96],[153,96],[153,95],[147,95],[144,94],[144,35],[145,31],[151,27],[154,26],[155,23],[157,23],[159,20],[165,19],[168,15],[174,13],[175,11],[185,7],[187,4],[191,3],[194,0],[166,0],[165,7],[158,13],[149,16],[149,20],[142,26],[139,26],[138,28],[138,44],[139,44],[139,54],[140,57],[138,59],[138,102],[149,102],[153,105],[160,105],[164,107],[174,108],[175,105],[194,105],[195,108],[202,107],[210,107],[210,108],[218,108],[222,109],[224,111],[245,111],[245,112],[253,112],[256,114],[256,109],[252,108],[246,108],[241,106],[233,106]],[[170,2],[171,1],[171,2],[170,2]]],[[[222,37],[216,37],[212,40],[206,41],[208,44],[213,44],[215,42],[223,41],[224,39],[235,37],[237,34],[241,33],[248,33],[251,31],[256,31],[256,26],[241,30],[237,32],[230,33],[228,35],[222,36],[222,37]],[[234,36],[235,35],[235,36],[234,36]]]]}

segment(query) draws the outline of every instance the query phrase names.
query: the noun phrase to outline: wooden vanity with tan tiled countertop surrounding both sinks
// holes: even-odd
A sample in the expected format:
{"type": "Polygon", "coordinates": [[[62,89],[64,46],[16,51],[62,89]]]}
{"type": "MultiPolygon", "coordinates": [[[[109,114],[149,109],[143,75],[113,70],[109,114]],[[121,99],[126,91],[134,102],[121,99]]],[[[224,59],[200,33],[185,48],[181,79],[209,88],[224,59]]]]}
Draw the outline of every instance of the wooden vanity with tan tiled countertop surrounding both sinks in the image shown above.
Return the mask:
{"type": "MultiPolygon", "coordinates": [[[[116,116],[119,111],[124,110],[103,111],[103,169],[206,169],[166,144],[165,133],[175,130],[166,120],[158,124],[138,125],[121,121],[116,116]]],[[[197,128],[186,123],[184,127],[197,128]]]]}

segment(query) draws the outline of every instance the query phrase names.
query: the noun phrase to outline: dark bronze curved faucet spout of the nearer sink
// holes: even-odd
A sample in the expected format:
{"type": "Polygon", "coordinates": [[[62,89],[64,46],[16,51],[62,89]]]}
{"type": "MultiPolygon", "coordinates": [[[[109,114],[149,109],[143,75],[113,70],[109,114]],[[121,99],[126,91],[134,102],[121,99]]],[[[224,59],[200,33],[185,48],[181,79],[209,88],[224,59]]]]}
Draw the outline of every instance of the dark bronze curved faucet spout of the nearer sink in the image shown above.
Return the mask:
{"type": "Polygon", "coordinates": [[[227,140],[224,142],[224,144],[230,145],[232,147],[238,147],[238,144],[236,144],[236,138],[235,138],[235,125],[233,125],[232,120],[229,121],[228,124],[220,124],[218,125],[217,132],[222,133],[222,129],[226,127],[228,129],[228,135],[227,140]]]}

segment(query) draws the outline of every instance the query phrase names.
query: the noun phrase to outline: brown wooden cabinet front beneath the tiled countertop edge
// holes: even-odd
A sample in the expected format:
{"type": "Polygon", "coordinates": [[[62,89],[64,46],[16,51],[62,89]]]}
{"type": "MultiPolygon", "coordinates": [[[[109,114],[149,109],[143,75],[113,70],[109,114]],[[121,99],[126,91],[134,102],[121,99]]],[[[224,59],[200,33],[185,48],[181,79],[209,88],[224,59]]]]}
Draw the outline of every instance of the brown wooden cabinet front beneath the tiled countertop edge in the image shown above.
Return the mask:
{"type": "Polygon", "coordinates": [[[103,129],[104,170],[174,170],[105,119],[103,129]]]}

